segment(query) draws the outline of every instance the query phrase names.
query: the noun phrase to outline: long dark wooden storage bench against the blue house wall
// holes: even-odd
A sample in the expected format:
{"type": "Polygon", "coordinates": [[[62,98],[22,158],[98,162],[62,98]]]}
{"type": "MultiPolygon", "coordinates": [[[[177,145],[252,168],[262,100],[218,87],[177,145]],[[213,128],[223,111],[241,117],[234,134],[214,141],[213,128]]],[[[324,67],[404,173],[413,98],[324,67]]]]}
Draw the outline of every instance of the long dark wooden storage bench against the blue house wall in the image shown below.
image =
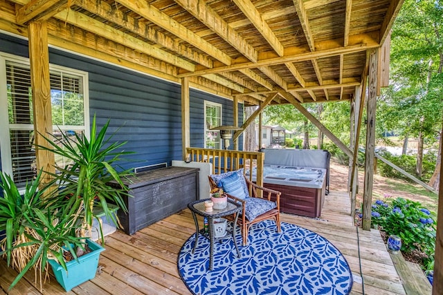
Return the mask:
{"type": "Polygon", "coordinates": [[[170,166],[136,173],[125,182],[129,195],[124,197],[128,213],[118,210],[126,234],[151,225],[185,209],[199,196],[199,169],[170,166]]]}

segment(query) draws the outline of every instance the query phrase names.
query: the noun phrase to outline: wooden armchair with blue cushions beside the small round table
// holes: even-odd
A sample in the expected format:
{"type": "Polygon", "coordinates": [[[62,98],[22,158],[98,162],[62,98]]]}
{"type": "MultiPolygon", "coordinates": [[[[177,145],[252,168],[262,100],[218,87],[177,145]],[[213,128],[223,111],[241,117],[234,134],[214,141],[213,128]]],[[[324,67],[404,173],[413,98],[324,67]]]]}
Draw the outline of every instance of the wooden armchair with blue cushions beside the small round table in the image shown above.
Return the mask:
{"type": "MultiPolygon", "coordinates": [[[[228,195],[228,198],[242,202],[242,213],[237,219],[237,224],[242,231],[243,245],[248,244],[248,231],[249,227],[254,223],[260,222],[266,219],[275,220],[277,231],[280,232],[280,191],[274,191],[273,189],[266,189],[265,187],[259,187],[257,184],[249,181],[244,177],[243,169],[237,171],[230,171],[227,173],[208,175],[210,188],[215,189],[222,187],[224,192],[228,195]],[[242,189],[237,187],[234,189],[239,196],[233,196],[233,190],[229,188],[229,185],[224,184],[224,178],[237,178],[237,181],[241,183],[242,189]],[[244,193],[241,191],[244,190],[244,193]],[[257,193],[257,190],[263,192],[263,198],[257,193]],[[249,191],[252,191],[252,196],[249,196],[249,191]],[[245,196],[246,195],[246,196],[245,196]],[[251,214],[251,211],[253,212],[251,214]],[[249,217],[249,218],[248,218],[249,217]]],[[[234,216],[235,218],[235,216],[234,216]]],[[[233,219],[234,220],[234,219],[233,219]]]]}

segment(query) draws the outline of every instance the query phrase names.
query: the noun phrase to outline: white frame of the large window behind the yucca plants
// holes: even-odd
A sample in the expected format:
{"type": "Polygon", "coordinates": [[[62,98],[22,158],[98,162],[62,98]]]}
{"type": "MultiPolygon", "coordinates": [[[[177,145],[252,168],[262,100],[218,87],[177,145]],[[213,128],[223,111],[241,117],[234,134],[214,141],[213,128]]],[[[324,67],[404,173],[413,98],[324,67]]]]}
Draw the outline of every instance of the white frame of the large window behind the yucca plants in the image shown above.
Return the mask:
{"type": "MultiPolygon", "coordinates": [[[[33,124],[10,124],[8,120],[8,89],[6,87],[6,61],[30,66],[30,61],[24,57],[17,57],[8,53],[0,52],[0,153],[1,153],[1,171],[12,177],[12,155],[10,142],[10,129],[33,129],[33,124]]],[[[83,130],[84,135],[89,138],[89,76],[87,72],[49,64],[49,70],[55,70],[67,75],[76,75],[83,79],[83,108],[84,125],[83,126],[60,126],[62,130],[83,130]]],[[[59,129],[59,126],[53,125],[53,130],[59,129]]],[[[23,188],[24,189],[24,188],[23,188]]]]}

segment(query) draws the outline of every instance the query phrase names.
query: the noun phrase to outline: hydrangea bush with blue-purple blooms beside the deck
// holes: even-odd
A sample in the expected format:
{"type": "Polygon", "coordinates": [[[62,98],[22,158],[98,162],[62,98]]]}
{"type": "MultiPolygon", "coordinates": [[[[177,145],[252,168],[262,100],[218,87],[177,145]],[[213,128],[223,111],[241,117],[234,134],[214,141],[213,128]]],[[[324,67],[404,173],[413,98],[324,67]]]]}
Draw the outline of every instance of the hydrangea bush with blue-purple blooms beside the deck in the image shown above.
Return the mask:
{"type": "Polygon", "coordinates": [[[424,265],[432,263],[435,251],[436,225],[432,216],[420,202],[404,198],[372,204],[372,225],[380,226],[387,236],[399,236],[404,253],[417,249],[426,254],[424,265]]]}

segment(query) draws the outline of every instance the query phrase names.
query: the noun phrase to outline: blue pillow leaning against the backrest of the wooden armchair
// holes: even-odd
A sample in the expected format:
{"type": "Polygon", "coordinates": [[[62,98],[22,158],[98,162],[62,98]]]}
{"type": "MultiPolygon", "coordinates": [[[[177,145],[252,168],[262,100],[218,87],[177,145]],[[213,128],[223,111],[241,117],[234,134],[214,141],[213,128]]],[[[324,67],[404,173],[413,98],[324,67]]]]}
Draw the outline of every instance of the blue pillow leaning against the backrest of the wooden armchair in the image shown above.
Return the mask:
{"type": "Polygon", "coordinates": [[[214,180],[217,187],[221,187],[231,196],[242,199],[249,198],[248,186],[246,184],[246,180],[244,180],[243,169],[220,174],[212,174],[210,175],[210,178],[214,180]],[[228,179],[225,180],[226,178],[228,179]],[[240,191],[239,187],[241,187],[242,191],[240,191]]]}

